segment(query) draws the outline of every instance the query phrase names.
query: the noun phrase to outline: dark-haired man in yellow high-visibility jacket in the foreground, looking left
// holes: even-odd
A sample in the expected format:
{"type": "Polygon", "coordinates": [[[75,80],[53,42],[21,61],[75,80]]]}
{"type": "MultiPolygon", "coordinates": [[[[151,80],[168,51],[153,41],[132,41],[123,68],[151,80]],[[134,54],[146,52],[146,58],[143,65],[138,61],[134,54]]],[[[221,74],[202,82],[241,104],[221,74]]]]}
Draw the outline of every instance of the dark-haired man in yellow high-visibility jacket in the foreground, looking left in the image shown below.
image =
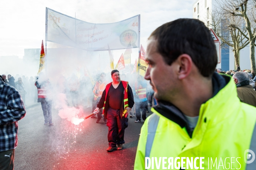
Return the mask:
{"type": "Polygon", "coordinates": [[[217,52],[200,20],[163,24],[148,38],[158,105],[142,129],[134,169],[256,168],[256,108],[240,102],[230,76],[215,73],[217,52]]]}

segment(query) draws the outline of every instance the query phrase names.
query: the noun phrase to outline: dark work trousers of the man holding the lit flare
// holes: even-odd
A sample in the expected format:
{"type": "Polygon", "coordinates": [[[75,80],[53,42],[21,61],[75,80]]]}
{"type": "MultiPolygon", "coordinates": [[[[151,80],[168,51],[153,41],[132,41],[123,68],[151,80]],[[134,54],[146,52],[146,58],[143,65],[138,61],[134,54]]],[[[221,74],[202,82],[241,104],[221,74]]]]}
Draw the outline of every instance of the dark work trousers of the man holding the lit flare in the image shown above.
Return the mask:
{"type": "Polygon", "coordinates": [[[116,147],[116,144],[124,144],[125,119],[121,119],[120,109],[108,108],[107,113],[108,126],[108,145],[116,147]]]}

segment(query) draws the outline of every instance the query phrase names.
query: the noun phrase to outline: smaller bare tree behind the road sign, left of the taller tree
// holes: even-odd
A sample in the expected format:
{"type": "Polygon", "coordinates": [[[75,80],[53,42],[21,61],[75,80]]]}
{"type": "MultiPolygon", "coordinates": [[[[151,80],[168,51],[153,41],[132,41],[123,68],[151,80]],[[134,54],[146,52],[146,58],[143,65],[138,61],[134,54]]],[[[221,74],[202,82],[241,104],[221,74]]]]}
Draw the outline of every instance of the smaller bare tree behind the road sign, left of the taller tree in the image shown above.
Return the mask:
{"type": "Polygon", "coordinates": [[[236,65],[239,65],[239,52],[249,44],[244,20],[221,11],[212,12],[211,20],[212,30],[221,39],[221,47],[228,45],[234,53],[236,65]]]}

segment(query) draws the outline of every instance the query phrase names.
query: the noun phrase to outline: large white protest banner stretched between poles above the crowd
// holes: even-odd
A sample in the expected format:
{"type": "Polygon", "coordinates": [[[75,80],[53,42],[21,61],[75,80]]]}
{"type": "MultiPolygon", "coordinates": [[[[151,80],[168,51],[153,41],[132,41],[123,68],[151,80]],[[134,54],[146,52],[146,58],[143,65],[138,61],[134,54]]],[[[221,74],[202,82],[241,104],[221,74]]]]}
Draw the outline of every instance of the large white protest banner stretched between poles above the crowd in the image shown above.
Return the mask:
{"type": "Polygon", "coordinates": [[[140,15],[116,23],[95,24],[46,8],[45,40],[87,51],[139,48],[140,15]]]}

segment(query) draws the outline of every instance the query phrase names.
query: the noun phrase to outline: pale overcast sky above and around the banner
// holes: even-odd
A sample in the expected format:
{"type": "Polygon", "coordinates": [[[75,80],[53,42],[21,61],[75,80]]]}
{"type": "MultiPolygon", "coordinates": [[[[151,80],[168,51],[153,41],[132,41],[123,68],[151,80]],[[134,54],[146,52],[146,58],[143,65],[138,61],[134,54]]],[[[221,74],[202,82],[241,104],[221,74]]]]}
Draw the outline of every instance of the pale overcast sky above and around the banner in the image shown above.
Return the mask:
{"type": "Polygon", "coordinates": [[[90,23],[113,23],[141,15],[140,42],[155,28],[177,18],[192,18],[195,0],[4,0],[0,5],[0,56],[24,55],[45,40],[45,8],[90,23]]]}

